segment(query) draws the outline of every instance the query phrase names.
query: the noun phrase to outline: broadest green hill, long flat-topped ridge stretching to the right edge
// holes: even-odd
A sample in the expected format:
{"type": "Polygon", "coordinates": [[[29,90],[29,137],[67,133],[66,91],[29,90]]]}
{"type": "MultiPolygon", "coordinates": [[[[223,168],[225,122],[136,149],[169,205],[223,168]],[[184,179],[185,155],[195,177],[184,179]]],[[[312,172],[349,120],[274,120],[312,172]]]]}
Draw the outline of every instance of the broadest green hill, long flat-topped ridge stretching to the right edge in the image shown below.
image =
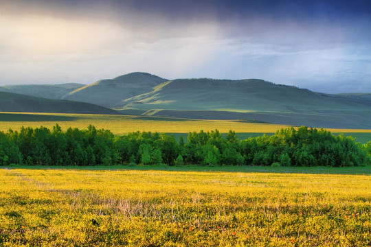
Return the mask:
{"type": "Polygon", "coordinates": [[[263,80],[181,79],[115,104],[122,113],[246,119],[325,128],[371,128],[368,99],[315,93],[263,80]],[[357,100],[356,100],[357,99],[357,100]]]}

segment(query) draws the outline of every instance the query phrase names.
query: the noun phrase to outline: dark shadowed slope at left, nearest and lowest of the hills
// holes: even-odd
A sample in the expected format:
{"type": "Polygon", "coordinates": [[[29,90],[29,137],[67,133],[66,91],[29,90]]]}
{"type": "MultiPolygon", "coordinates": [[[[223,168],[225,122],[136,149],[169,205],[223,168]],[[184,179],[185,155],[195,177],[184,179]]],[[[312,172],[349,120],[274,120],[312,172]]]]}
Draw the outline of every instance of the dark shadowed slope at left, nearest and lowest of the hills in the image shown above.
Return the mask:
{"type": "Polygon", "coordinates": [[[0,92],[0,112],[118,114],[115,110],[84,102],[45,99],[0,92]]]}

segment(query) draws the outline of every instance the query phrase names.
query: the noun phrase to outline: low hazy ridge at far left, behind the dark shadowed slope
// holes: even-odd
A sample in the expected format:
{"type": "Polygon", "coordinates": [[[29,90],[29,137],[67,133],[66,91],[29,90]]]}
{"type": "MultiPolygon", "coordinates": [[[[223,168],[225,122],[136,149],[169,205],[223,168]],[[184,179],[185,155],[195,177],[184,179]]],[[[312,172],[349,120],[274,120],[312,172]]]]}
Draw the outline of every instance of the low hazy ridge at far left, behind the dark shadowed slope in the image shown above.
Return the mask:
{"type": "Polygon", "coordinates": [[[0,88],[0,91],[8,93],[20,93],[23,95],[30,95],[34,97],[45,97],[48,99],[62,99],[68,93],[71,93],[72,91],[79,89],[82,86],[86,85],[78,83],[54,84],[54,85],[47,84],[10,85],[3,86],[2,89],[0,88]]]}

